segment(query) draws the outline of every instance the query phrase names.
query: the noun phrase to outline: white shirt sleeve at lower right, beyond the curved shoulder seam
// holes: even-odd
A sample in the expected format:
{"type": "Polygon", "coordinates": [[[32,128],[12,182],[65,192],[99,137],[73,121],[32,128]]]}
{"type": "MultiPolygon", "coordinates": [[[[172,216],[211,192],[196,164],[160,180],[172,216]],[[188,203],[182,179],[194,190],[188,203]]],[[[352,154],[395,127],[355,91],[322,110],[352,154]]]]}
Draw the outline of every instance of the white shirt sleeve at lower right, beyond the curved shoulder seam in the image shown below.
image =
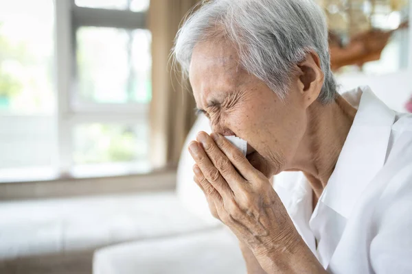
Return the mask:
{"type": "Polygon", "coordinates": [[[375,273],[412,273],[412,162],[404,164],[376,200],[369,256],[375,273]]]}

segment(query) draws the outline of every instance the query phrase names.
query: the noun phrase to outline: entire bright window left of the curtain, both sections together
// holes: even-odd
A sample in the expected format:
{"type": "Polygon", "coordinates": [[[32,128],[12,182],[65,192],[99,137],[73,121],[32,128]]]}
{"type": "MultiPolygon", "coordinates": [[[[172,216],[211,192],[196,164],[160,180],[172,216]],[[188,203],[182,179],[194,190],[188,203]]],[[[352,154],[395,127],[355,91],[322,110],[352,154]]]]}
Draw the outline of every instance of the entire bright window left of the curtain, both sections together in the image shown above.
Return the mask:
{"type": "Polygon", "coordinates": [[[0,182],[148,169],[148,6],[1,1],[0,182]]]}

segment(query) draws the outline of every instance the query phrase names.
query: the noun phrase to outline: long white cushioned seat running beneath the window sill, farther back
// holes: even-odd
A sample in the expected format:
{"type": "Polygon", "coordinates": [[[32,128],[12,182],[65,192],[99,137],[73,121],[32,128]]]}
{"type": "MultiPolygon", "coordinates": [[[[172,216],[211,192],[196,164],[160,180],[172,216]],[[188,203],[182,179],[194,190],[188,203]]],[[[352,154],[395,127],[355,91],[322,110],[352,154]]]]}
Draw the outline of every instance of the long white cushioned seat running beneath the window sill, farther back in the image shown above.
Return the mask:
{"type": "Polygon", "coordinates": [[[0,259],[95,249],[211,227],[174,192],[0,203],[0,259]]]}

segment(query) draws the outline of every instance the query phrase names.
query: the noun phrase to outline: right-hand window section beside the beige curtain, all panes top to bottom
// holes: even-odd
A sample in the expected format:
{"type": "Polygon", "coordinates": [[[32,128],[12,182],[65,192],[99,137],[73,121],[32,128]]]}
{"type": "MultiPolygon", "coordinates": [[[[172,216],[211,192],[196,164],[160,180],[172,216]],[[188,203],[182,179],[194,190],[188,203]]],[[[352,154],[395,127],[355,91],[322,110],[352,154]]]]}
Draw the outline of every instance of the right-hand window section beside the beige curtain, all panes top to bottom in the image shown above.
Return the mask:
{"type": "Polygon", "coordinates": [[[75,1],[69,160],[77,171],[102,164],[134,171],[148,166],[148,5],[148,0],[75,1]]]}

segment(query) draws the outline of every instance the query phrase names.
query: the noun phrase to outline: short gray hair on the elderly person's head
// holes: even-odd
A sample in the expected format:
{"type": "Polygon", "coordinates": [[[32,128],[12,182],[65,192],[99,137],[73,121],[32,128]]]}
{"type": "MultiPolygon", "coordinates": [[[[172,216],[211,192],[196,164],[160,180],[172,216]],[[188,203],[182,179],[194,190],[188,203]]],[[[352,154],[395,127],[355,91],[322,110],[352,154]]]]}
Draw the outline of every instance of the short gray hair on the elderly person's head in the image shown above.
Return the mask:
{"type": "Polygon", "coordinates": [[[284,99],[296,64],[315,51],[325,75],[318,100],[336,97],[330,69],[328,27],[314,0],[203,1],[179,29],[173,55],[187,76],[198,42],[228,39],[238,50],[240,65],[284,99]]]}

